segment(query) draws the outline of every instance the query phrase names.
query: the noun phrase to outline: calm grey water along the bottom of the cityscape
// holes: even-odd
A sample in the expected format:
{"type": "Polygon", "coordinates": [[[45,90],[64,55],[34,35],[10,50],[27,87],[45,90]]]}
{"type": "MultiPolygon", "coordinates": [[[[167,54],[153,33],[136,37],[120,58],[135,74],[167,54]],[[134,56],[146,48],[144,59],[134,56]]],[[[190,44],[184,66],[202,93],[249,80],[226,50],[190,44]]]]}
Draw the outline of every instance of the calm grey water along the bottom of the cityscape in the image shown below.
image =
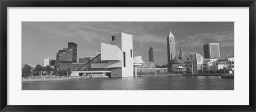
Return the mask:
{"type": "Polygon", "coordinates": [[[220,76],[76,78],[24,82],[22,90],[234,90],[234,79],[220,76]]]}

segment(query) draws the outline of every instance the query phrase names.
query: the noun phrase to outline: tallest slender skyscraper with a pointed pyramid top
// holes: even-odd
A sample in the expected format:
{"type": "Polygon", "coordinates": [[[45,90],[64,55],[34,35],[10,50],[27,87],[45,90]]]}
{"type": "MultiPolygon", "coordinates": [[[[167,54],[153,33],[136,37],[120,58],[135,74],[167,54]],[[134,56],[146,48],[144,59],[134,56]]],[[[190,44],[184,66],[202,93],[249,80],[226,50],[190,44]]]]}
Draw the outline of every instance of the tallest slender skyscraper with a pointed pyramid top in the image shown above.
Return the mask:
{"type": "MultiPolygon", "coordinates": [[[[172,34],[172,32],[170,31],[168,37],[167,37],[167,55],[168,55],[168,62],[172,59],[175,58],[175,39],[174,36],[172,34]]],[[[167,63],[168,63],[167,62],[167,63]]]]}

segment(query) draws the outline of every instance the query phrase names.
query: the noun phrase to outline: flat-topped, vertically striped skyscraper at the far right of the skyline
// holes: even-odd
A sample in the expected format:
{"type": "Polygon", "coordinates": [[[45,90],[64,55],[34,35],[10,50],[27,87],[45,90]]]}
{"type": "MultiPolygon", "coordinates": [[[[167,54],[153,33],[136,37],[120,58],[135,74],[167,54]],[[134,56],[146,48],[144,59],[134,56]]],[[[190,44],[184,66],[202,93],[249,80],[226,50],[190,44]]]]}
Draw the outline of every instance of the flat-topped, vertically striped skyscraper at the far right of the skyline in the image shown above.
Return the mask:
{"type": "Polygon", "coordinates": [[[220,58],[219,43],[204,44],[204,58],[220,58]]]}

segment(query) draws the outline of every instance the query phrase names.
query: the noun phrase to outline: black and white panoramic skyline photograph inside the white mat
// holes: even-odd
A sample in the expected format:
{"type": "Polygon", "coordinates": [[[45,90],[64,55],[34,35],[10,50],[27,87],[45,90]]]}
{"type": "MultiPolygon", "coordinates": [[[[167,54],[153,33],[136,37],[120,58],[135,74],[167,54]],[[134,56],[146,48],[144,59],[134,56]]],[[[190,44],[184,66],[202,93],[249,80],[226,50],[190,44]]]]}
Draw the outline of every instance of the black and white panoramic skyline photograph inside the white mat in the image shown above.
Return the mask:
{"type": "Polygon", "coordinates": [[[22,90],[234,90],[234,22],[21,23],[22,90]]]}

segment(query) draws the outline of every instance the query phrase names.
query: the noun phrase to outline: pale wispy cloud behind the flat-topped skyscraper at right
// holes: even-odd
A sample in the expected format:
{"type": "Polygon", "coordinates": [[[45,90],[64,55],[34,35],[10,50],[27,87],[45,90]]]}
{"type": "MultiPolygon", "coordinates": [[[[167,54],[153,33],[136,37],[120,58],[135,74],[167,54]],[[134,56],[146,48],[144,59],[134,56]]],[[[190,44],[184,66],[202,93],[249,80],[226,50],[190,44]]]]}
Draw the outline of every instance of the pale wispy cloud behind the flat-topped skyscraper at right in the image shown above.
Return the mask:
{"type": "Polygon", "coordinates": [[[219,33],[201,33],[176,40],[180,46],[203,46],[206,43],[220,43],[221,47],[234,46],[234,31],[223,31],[219,33]]]}

